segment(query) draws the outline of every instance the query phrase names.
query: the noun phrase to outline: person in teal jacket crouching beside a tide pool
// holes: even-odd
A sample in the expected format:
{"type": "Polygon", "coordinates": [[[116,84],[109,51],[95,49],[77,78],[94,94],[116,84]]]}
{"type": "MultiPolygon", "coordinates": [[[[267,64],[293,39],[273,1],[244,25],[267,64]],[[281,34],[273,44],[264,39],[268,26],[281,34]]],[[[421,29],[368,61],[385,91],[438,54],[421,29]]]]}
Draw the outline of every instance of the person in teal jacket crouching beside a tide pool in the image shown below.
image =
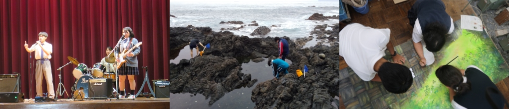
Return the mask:
{"type": "Polygon", "coordinates": [[[274,75],[274,80],[279,79],[279,74],[286,75],[288,74],[288,63],[281,59],[268,60],[267,65],[272,67],[272,75],[274,75]]]}

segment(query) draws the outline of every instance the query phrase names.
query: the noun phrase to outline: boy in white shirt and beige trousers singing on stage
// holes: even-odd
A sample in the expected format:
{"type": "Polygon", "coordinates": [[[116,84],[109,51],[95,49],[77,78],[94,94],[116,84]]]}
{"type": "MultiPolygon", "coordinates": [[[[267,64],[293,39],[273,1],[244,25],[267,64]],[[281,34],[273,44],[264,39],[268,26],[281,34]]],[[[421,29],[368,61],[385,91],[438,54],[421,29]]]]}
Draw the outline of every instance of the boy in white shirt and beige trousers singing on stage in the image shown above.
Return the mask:
{"type": "Polygon", "coordinates": [[[36,83],[36,89],[37,89],[37,95],[36,96],[43,96],[42,94],[42,77],[46,77],[46,83],[47,83],[47,100],[56,101],[54,99],[55,92],[53,89],[53,75],[51,74],[51,63],[49,62],[49,59],[51,59],[51,53],[53,52],[53,45],[46,42],[46,39],[48,38],[48,33],[46,32],[39,32],[39,41],[37,41],[36,44],[32,45],[29,48],[29,45],[26,44],[25,41],[25,50],[27,52],[33,52],[35,51],[35,59],[37,60],[36,68],[35,68],[35,83],[36,83]]]}

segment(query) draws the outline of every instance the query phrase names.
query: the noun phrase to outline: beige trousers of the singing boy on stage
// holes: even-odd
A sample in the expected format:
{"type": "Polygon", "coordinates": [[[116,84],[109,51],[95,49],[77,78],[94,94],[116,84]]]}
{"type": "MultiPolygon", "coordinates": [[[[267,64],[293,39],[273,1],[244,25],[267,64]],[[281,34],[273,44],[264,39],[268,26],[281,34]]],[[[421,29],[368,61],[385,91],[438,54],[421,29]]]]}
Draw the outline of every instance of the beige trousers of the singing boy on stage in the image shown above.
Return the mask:
{"type": "Polygon", "coordinates": [[[55,92],[53,89],[53,75],[51,74],[51,63],[49,61],[44,61],[44,64],[41,65],[41,60],[37,61],[35,67],[35,84],[37,89],[36,96],[43,96],[42,94],[42,76],[46,78],[48,95],[47,97],[53,98],[55,96],[55,92]]]}

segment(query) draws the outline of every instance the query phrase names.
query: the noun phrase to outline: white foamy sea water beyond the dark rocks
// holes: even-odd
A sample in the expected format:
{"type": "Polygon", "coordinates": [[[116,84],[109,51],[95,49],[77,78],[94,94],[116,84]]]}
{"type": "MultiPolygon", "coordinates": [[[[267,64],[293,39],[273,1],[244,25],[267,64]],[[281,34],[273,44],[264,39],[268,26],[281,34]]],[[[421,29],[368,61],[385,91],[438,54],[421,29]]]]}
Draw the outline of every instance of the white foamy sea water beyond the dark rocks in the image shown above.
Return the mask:
{"type": "Polygon", "coordinates": [[[314,13],[324,16],[339,15],[339,2],[171,2],[169,12],[170,27],[210,27],[213,31],[243,25],[239,30],[228,30],[236,35],[249,37],[282,37],[290,39],[310,36],[316,25],[336,24],[337,19],[326,21],[306,20],[314,13]],[[315,6],[315,7],[312,7],[315,6]],[[243,25],[219,24],[224,21],[242,21],[243,25]],[[256,21],[259,26],[247,26],[256,21]],[[271,27],[275,25],[276,27],[271,27]],[[256,28],[267,26],[271,31],[264,36],[251,36],[256,28]]]}

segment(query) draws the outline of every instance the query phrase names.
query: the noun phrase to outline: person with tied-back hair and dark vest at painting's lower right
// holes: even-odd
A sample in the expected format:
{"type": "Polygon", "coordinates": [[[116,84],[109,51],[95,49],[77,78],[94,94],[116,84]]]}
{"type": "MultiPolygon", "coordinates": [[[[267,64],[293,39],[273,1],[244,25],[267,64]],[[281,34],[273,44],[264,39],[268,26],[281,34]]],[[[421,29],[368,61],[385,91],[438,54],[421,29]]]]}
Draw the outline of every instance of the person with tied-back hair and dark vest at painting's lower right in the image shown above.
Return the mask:
{"type": "MultiPolygon", "coordinates": [[[[486,89],[493,88],[500,92],[482,70],[476,66],[468,66],[466,70],[451,65],[444,65],[435,72],[438,80],[449,89],[449,98],[454,108],[490,108],[486,89]]],[[[490,94],[494,104],[504,106],[503,96],[490,94]]]]}

